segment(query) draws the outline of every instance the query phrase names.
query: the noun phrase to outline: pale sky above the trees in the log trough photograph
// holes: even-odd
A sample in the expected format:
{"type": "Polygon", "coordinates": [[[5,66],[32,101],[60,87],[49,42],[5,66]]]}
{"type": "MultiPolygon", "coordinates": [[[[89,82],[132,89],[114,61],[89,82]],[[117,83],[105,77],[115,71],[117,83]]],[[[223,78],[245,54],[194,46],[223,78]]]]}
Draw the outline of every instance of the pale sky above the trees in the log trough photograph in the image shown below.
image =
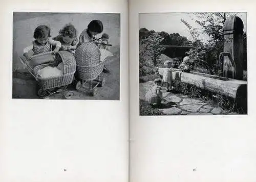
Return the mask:
{"type": "MultiPolygon", "coordinates": [[[[194,20],[191,19],[193,15],[188,13],[140,13],[139,14],[139,28],[146,28],[148,30],[155,30],[156,32],[179,33],[188,39],[192,39],[187,31],[186,26],[181,22],[181,19],[186,20],[193,28],[200,28],[194,20]]],[[[247,31],[246,13],[237,13],[244,23],[244,32],[247,31]]],[[[207,40],[207,35],[201,35],[201,39],[207,40]]]]}

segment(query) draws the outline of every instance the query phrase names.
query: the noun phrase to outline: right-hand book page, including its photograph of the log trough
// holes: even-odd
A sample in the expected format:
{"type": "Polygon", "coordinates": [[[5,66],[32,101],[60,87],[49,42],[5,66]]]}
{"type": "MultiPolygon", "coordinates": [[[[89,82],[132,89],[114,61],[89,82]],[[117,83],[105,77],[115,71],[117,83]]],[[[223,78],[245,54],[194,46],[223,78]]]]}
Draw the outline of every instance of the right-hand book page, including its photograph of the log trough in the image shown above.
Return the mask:
{"type": "Polygon", "coordinates": [[[255,5],[129,1],[131,182],[255,181],[255,5]]]}

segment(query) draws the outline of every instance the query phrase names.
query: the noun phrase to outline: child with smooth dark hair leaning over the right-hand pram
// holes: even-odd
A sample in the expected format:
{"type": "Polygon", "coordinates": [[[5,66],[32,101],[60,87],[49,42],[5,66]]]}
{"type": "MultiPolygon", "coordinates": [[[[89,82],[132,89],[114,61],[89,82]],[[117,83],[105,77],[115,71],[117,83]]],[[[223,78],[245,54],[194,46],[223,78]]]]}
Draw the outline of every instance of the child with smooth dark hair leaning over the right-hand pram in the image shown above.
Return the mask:
{"type": "Polygon", "coordinates": [[[95,41],[95,36],[97,34],[100,34],[103,31],[103,24],[100,20],[92,20],[88,26],[87,29],[83,30],[82,33],[79,36],[79,45],[81,45],[84,42],[92,42],[95,41]]]}

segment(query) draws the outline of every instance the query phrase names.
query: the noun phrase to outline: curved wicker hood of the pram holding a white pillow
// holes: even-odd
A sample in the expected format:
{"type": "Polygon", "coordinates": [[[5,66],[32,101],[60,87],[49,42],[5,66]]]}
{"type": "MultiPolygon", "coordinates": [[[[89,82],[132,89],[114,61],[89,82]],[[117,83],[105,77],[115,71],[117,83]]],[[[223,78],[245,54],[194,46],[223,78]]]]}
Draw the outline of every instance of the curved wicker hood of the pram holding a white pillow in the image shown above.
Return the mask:
{"type": "Polygon", "coordinates": [[[64,74],[75,72],[76,71],[76,60],[74,54],[69,51],[61,50],[56,53],[56,61],[61,58],[61,61],[64,65],[64,74]]]}

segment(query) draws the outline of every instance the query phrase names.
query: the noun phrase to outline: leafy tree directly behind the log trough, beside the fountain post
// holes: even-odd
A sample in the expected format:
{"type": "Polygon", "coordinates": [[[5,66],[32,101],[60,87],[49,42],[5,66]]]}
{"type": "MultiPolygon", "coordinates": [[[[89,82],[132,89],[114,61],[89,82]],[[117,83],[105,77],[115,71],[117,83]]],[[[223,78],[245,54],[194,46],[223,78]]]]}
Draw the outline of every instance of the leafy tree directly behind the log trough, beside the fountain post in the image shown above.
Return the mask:
{"type": "Polygon", "coordinates": [[[206,68],[208,73],[217,74],[216,63],[219,54],[223,51],[223,24],[227,17],[234,13],[193,13],[193,15],[192,19],[200,25],[200,29],[191,27],[187,21],[181,19],[193,37],[194,47],[187,54],[195,61],[196,65],[206,68]],[[207,34],[209,40],[205,43],[202,42],[199,39],[200,34],[207,34]]]}

